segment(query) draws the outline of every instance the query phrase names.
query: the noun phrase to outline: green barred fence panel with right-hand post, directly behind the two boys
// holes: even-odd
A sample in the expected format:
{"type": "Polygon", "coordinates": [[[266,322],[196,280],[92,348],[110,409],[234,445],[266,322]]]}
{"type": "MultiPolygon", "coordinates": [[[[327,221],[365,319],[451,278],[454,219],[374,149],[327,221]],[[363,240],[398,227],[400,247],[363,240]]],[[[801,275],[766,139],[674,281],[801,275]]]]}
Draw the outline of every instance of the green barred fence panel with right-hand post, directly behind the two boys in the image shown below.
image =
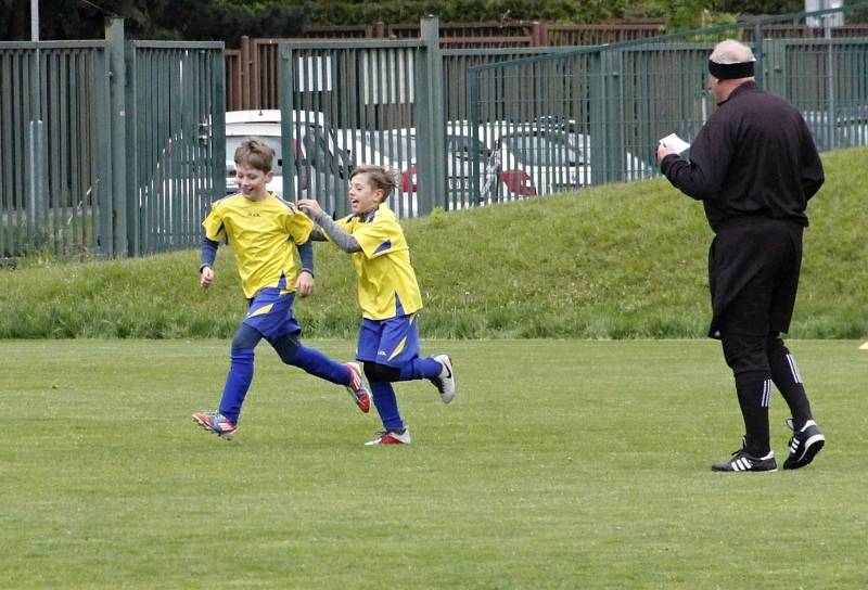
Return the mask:
{"type": "Polygon", "coordinates": [[[399,216],[430,211],[443,196],[442,166],[417,171],[416,163],[434,163],[443,151],[438,52],[429,26],[411,40],[282,43],[284,195],[309,194],[343,215],[349,170],[379,164],[399,175],[391,197],[399,216]]]}

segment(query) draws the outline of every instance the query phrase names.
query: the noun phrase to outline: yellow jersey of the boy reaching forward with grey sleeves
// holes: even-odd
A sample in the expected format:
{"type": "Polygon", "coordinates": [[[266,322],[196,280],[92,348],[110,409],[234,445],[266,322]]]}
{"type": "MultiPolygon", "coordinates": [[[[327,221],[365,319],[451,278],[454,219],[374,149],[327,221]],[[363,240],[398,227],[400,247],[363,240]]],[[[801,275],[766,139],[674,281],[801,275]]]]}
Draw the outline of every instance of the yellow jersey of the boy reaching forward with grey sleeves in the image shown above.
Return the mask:
{"type": "Polygon", "coordinates": [[[422,309],[410,248],[392,209],[381,204],[367,221],[352,215],[336,223],[361,246],[361,252],[353,253],[361,316],[369,320],[394,318],[398,300],[405,315],[422,309]]]}

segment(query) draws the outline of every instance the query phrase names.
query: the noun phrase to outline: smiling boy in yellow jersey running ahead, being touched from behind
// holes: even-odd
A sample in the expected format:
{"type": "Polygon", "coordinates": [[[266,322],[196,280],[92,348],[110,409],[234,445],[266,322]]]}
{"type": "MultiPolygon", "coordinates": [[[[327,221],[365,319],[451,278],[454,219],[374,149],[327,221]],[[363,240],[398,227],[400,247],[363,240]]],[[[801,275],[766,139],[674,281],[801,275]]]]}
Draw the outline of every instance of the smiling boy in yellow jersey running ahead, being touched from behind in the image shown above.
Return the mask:
{"type": "Polygon", "coordinates": [[[230,439],[238,429],[241,406],[253,381],[253,351],[261,338],[286,364],[339,385],[345,385],[362,412],[370,409],[370,395],[358,364],[336,362],[319,350],[302,346],[302,329],[292,312],[297,292],[314,291],[314,248],[308,241],[314,225],[294,205],[266,190],[271,180],[275,151],[261,139],[244,140],[235,151],[237,179],[241,192],[221,198],[202,226],[203,288],[214,281],[217,246],[224,239],[232,247],[247,298],[247,313],[232,338],[231,362],[222,398],[216,412],[196,412],[193,420],[206,431],[230,439]],[[296,269],[294,249],[302,260],[296,269]]]}

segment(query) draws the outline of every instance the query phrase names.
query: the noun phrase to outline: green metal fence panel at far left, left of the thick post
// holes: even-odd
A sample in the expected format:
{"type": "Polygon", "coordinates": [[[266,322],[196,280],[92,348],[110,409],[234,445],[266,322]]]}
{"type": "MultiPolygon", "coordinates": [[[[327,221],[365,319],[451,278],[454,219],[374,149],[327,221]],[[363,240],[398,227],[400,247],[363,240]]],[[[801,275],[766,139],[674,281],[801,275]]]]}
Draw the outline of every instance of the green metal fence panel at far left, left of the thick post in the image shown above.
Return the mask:
{"type": "Polygon", "coordinates": [[[0,42],[0,257],[113,254],[105,42],[0,42]]]}

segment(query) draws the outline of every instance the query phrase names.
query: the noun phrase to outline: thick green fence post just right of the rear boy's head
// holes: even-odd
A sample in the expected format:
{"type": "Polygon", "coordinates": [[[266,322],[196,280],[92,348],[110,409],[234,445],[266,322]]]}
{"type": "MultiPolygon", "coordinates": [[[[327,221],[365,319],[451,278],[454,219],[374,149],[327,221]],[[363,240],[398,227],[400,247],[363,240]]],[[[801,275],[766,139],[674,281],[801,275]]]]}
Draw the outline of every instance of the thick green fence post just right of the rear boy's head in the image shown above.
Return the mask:
{"type": "Polygon", "coordinates": [[[443,97],[443,53],[439,18],[421,21],[422,59],[417,63],[416,103],[418,108],[417,151],[419,170],[419,213],[436,206],[447,208],[445,146],[446,120],[443,97]]]}

